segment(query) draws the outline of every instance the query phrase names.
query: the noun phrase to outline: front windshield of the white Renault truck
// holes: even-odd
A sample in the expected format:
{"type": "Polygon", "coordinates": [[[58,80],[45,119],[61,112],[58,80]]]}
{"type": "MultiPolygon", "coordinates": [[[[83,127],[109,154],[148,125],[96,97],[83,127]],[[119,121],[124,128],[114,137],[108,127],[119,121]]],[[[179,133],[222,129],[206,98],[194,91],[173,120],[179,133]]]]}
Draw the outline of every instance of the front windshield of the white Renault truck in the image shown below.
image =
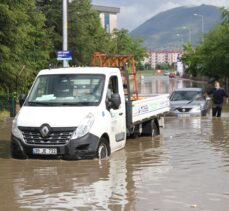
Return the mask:
{"type": "Polygon", "coordinates": [[[96,106],[100,103],[105,75],[40,75],[27,99],[28,106],[96,106]]]}

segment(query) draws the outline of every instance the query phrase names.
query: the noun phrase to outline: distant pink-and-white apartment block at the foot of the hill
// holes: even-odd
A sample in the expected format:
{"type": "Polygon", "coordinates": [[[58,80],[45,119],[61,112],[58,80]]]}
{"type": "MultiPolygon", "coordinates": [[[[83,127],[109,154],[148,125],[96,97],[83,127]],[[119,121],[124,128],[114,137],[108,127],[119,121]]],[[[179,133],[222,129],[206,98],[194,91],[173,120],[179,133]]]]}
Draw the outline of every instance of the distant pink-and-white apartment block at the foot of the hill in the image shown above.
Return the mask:
{"type": "Polygon", "coordinates": [[[149,57],[145,58],[144,64],[148,63],[151,65],[151,68],[155,69],[157,64],[172,65],[176,63],[178,58],[182,55],[182,50],[151,50],[148,53],[149,57]]]}

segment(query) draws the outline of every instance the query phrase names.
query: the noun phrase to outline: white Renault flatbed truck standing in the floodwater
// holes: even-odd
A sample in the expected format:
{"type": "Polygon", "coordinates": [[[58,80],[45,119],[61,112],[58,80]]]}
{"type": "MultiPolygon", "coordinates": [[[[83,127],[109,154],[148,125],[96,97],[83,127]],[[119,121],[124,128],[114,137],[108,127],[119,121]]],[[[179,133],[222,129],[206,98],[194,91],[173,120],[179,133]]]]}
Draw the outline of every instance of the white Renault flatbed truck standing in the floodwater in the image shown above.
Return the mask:
{"type": "Polygon", "coordinates": [[[132,100],[119,68],[74,67],[38,73],[13,120],[11,154],[26,159],[105,158],[128,136],[156,136],[167,94],[132,100]]]}

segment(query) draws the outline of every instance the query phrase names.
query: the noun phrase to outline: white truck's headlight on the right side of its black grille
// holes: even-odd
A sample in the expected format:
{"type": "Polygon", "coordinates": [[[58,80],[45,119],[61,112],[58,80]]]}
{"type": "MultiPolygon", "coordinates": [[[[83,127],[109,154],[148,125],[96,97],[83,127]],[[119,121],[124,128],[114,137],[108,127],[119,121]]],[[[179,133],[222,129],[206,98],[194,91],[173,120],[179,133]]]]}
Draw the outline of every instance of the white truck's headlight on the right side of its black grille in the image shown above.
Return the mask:
{"type": "Polygon", "coordinates": [[[73,132],[71,139],[77,139],[86,135],[90,131],[94,121],[94,115],[92,113],[89,113],[86,117],[84,117],[77,129],[73,132]]]}

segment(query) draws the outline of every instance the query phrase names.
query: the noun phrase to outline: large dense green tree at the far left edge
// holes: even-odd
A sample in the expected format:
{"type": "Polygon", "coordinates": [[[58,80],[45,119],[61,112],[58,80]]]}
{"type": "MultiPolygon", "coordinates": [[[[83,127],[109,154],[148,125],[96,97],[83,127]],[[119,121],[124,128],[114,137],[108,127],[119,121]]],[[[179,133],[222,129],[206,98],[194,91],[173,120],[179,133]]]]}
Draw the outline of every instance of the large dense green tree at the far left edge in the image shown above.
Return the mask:
{"type": "Polygon", "coordinates": [[[26,86],[47,64],[51,45],[44,15],[33,0],[2,0],[0,14],[0,90],[12,92],[16,84],[26,86]]]}

